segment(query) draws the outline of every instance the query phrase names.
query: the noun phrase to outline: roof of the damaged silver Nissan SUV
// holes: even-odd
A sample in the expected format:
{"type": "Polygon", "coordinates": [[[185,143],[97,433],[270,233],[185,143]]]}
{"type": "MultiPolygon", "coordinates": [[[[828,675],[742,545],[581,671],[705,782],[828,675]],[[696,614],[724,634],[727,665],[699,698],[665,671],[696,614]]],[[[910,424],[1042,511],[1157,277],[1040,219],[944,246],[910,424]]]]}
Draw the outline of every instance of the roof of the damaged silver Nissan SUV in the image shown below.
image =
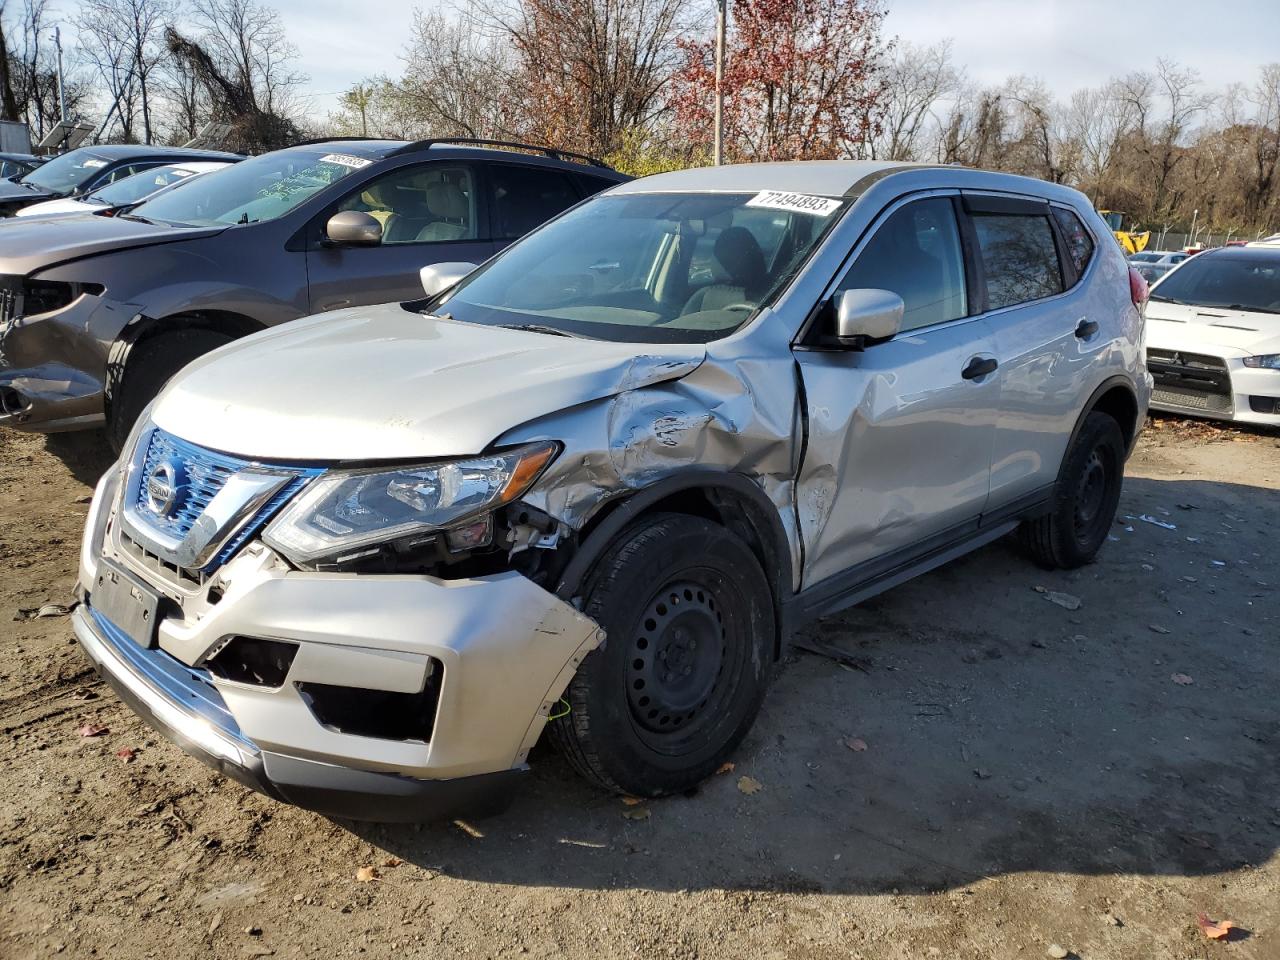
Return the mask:
{"type": "Polygon", "coordinates": [[[762,164],[696,166],[631,180],[609,191],[621,193],[756,193],[765,189],[856,197],[890,177],[909,177],[911,189],[991,189],[1029,193],[1044,200],[1079,202],[1083,196],[1060,184],[959,164],[908,164],[888,160],[791,160],[762,164]],[[932,183],[929,183],[932,180],[932,183]]]}

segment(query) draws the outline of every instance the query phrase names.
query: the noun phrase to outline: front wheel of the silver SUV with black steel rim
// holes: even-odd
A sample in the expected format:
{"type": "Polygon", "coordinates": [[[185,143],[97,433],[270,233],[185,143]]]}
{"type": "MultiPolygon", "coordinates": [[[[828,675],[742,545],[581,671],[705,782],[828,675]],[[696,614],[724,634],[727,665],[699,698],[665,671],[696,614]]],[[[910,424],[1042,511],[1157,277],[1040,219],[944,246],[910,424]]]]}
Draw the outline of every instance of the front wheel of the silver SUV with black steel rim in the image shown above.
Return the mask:
{"type": "Polygon", "coordinates": [[[605,631],[552,740],[589,781],[634,796],[689,790],[759,713],[773,668],[769,581],[750,548],[699,517],[623,531],[586,584],[605,631]]]}

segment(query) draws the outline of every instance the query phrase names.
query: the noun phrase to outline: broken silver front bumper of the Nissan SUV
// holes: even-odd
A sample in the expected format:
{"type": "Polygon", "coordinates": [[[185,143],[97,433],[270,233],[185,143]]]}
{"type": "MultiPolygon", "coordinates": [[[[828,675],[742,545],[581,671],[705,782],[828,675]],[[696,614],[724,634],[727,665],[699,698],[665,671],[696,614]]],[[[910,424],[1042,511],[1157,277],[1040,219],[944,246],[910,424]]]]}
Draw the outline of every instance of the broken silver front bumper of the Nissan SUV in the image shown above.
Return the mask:
{"type": "Polygon", "coordinates": [[[174,582],[115,522],[119,476],[102,479],[90,508],[77,636],[161,732],[270,796],[356,819],[429,819],[457,806],[475,814],[525,769],[577,664],[600,643],[594,621],[515,572],[452,581],[315,573],[250,543],[204,582],[174,582]],[[165,598],[152,646],[95,607],[104,558],[165,598]],[[215,676],[209,663],[230,637],[293,644],[296,654],[276,686],[215,676]],[[323,722],[307,695],[308,685],[412,695],[431,677],[439,695],[426,736],[343,730],[323,722]]]}

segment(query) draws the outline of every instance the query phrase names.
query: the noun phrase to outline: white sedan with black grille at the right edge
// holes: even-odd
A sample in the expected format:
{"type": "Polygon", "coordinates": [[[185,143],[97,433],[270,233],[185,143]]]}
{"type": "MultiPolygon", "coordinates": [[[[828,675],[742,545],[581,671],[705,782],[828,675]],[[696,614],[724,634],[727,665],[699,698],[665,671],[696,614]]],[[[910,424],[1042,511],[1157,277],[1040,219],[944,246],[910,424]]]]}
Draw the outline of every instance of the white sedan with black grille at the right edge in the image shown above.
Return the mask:
{"type": "Polygon", "coordinates": [[[1151,406],[1280,426],[1280,247],[1199,253],[1151,288],[1151,406]]]}

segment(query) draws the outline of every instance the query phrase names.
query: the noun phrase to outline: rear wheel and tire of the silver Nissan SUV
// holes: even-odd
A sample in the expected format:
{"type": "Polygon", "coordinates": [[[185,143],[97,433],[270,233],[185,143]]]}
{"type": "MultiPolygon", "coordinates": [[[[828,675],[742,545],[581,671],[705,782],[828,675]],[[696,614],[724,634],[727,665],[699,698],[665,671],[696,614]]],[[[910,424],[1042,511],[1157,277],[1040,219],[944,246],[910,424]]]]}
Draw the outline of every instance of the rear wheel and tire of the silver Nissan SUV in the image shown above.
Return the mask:
{"type": "Polygon", "coordinates": [[[1019,539],[1046,570],[1089,563],[1107,540],[1124,484],[1124,436],[1106,413],[1089,413],[1066,452],[1048,513],[1023,521],[1019,539]]]}

